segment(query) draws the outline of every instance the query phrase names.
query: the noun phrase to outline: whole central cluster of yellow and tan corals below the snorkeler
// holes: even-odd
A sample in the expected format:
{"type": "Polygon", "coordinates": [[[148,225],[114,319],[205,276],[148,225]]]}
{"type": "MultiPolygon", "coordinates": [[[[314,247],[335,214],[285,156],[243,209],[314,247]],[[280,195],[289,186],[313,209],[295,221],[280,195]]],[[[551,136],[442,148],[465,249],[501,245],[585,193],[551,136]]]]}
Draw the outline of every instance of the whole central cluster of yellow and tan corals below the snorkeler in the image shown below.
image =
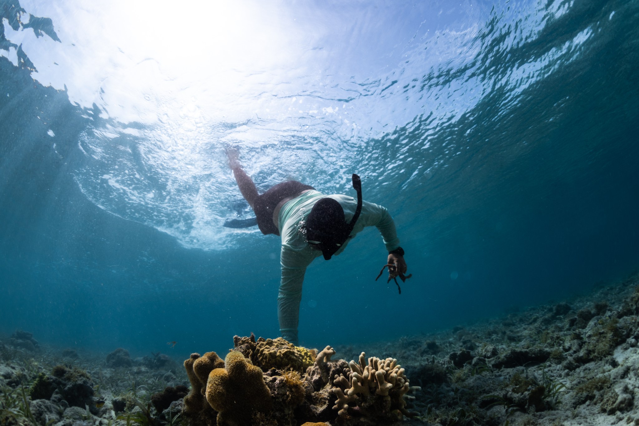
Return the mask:
{"type": "Polygon", "coordinates": [[[184,363],[192,390],[184,400],[183,413],[193,426],[212,425],[212,419],[217,425],[374,425],[415,415],[406,409],[411,388],[397,360],[373,357],[364,365],[362,353],[359,364],[351,361],[349,365],[332,361],[335,350],[330,346],[318,353],[281,338],[256,340],[253,335],[235,336],[233,342],[235,349],[218,368],[211,369],[221,363],[215,353],[192,354],[184,363]],[[303,359],[300,354],[306,358],[304,363],[314,356],[305,372],[300,372],[304,364],[291,365],[291,360],[303,359]],[[198,371],[198,365],[207,367],[198,371]],[[206,402],[201,406],[204,387],[206,402]]]}

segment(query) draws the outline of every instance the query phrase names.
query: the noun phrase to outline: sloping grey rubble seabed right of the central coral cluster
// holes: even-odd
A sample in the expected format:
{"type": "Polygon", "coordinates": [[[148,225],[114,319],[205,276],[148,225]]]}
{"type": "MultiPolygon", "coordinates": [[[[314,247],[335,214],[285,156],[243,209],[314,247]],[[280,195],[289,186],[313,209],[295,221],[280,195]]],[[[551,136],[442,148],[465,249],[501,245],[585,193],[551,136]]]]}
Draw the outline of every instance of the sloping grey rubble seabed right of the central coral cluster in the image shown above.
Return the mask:
{"type": "Polygon", "coordinates": [[[374,349],[403,360],[422,386],[407,403],[434,425],[639,424],[638,314],[636,274],[587,296],[374,349]]]}

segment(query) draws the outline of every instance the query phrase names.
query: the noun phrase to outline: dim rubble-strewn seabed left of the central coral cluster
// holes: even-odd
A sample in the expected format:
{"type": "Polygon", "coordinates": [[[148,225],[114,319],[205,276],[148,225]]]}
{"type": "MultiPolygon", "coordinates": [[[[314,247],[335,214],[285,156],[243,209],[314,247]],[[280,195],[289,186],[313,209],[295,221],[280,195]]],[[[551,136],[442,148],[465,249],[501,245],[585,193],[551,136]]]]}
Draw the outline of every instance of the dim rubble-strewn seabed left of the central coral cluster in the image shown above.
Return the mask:
{"type": "Polygon", "coordinates": [[[168,363],[149,369],[135,361],[128,368],[105,367],[105,354],[82,351],[79,356],[75,349],[42,344],[34,352],[18,342],[24,339],[35,347],[30,333],[14,333],[0,342],[1,425],[178,425],[181,399],[160,413],[151,397],[167,386],[181,386],[185,393],[183,370],[171,372],[168,363]]]}

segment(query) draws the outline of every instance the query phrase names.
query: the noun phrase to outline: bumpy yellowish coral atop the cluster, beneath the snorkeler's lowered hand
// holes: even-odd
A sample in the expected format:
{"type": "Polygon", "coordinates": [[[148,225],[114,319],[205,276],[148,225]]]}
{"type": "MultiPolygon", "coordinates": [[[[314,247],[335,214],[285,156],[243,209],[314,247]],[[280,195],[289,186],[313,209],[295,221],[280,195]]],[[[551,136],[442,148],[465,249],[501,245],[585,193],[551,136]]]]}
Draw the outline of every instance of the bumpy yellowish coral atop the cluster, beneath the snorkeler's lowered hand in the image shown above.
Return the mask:
{"type": "Polygon", "coordinates": [[[281,337],[266,340],[260,338],[256,344],[255,356],[264,370],[293,369],[301,373],[314,363],[316,351],[295,346],[281,337]]]}

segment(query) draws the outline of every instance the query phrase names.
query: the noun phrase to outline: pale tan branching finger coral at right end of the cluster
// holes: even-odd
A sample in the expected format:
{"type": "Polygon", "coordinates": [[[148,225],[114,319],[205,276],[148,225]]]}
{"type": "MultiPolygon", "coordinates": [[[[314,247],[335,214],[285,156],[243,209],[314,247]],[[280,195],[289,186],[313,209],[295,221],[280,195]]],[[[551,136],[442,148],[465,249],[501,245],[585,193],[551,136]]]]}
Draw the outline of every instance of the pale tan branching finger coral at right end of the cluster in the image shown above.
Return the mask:
{"type": "Polygon", "coordinates": [[[353,407],[351,404],[356,405],[360,413],[366,416],[388,420],[401,420],[402,415],[413,416],[404,408],[404,395],[412,388],[397,360],[371,357],[365,363],[365,356],[362,352],[359,363],[350,361],[348,377],[344,374],[335,377],[334,384],[337,387],[333,388],[333,393],[337,396],[337,402],[333,409],[339,410],[341,417],[348,415],[348,409],[353,407]]]}

